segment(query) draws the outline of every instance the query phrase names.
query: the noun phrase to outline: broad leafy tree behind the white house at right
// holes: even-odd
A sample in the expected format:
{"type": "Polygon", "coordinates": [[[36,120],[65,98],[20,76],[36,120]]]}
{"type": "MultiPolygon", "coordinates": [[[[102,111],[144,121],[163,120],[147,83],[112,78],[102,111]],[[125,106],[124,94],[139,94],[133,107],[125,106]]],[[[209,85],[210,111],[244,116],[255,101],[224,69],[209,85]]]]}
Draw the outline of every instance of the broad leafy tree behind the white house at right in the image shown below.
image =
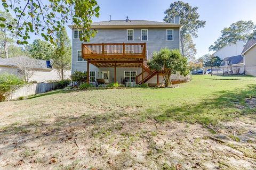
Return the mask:
{"type": "Polygon", "coordinates": [[[238,21],[233,23],[228,28],[221,30],[220,38],[214,42],[214,45],[209,47],[209,50],[219,50],[228,43],[236,44],[236,41],[239,39],[249,40],[254,36],[255,31],[256,25],[252,21],[238,21]]]}

